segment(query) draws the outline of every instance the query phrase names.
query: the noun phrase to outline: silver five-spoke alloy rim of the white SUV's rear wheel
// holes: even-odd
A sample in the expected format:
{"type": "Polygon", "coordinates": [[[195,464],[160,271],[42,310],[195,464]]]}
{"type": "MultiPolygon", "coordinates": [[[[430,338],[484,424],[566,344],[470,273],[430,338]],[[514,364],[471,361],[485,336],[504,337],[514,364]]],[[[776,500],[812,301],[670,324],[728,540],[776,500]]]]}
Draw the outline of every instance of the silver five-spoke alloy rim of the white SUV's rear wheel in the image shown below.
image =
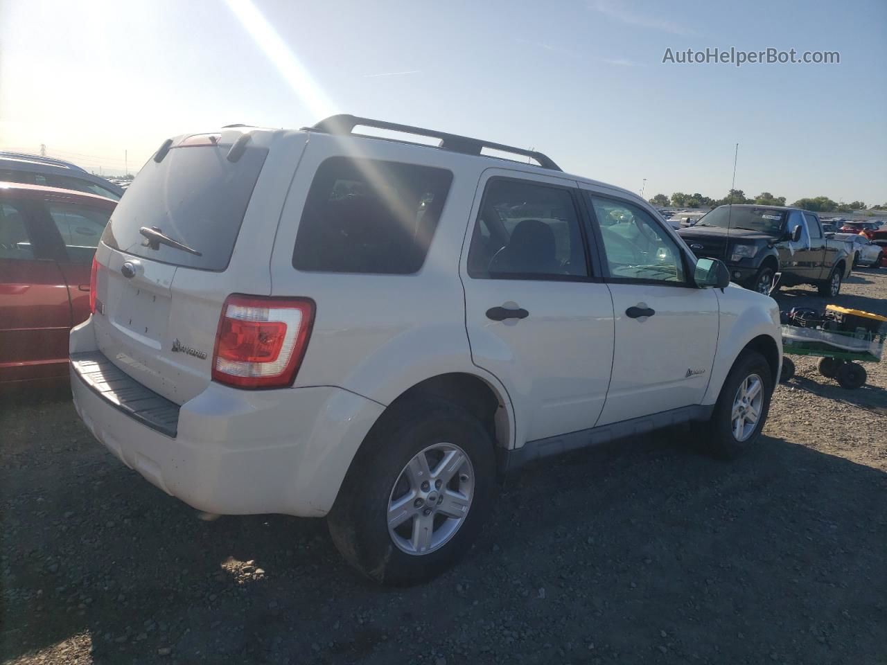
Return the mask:
{"type": "Polygon", "coordinates": [[[413,555],[443,547],[465,523],[474,493],[474,468],[465,450],[452,443],[428,446],[404,466],[391,489],[391,540],[413,555]]]}

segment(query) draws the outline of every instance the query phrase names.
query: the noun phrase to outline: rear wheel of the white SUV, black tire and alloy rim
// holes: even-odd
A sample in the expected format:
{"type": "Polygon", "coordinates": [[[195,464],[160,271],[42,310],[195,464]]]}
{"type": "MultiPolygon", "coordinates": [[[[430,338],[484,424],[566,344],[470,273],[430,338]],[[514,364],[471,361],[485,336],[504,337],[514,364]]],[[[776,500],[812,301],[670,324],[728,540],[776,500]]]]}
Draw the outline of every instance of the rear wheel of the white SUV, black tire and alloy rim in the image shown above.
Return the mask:
{"type": "Polygon", "coordinates": [[[327,519],[336,547],[376,582],[439,575],[471,547],[495,500],[491,435],[436,400],[404,403],[368,436],[327,519]]]}

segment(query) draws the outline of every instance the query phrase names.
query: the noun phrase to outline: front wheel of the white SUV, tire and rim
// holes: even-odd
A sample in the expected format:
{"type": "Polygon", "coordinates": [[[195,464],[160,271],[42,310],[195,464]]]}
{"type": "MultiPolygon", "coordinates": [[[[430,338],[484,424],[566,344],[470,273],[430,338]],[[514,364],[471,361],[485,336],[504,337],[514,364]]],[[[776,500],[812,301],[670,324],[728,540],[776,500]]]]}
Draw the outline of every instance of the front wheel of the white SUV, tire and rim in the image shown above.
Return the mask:
{"type": "Polygon", "coordinates": [[[727,375],[710,420],[697,428],[703,450],[726,459],[748,450],[764,428],[772,395],[770,365],[757,351],[745,351],[727,375]]]}

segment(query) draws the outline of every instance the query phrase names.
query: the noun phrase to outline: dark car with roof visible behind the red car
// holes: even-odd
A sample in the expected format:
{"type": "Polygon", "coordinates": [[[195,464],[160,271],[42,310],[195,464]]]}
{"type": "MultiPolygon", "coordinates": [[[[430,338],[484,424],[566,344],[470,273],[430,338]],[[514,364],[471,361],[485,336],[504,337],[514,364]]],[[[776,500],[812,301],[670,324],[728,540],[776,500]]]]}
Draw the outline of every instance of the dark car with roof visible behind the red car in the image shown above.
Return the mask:
{"type": "Polygon", "coordinates": [[[0,182],[42,184],[75,192],[89,192],[120,200],[123,188],[69,161],[34,154],[0,153],[0,182]]]}

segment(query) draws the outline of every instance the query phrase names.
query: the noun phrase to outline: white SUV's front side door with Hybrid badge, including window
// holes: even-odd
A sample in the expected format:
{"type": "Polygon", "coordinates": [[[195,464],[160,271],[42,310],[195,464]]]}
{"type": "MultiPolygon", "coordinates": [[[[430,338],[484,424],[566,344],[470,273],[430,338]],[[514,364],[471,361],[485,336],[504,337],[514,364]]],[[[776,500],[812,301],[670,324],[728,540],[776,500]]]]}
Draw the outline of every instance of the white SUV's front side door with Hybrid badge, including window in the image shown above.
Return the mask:
{"type": "Polygon", "coordinates": [[[702,402],[718,341],[718,296],[695,286],[691,254],[646,207],[589,187],[616,344],[599,425],[702,402]]]}

